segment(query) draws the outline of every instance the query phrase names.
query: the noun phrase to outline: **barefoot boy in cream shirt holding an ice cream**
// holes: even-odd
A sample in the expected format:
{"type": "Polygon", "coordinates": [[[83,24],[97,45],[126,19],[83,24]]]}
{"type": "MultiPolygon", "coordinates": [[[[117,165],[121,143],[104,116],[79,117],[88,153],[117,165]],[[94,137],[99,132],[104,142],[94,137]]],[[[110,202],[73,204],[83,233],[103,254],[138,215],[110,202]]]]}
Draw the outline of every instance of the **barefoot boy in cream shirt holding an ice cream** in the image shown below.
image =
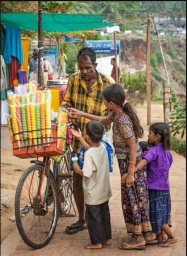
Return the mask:
{"type": "Polygon", "coordinates": [[[104,133],[104,126],[98,121],[86,124],[86,139],[81,131],[72,129],[85,150],[83,169],[74,164],[74,172],[83,176],[83,192],[86,205],[86,222],[91,244],[86,249],[101,249],[102,244],[110,245],[111,224],[108,200],[111,197],[110,171],[105,146],[99,141],[104,133]]]}

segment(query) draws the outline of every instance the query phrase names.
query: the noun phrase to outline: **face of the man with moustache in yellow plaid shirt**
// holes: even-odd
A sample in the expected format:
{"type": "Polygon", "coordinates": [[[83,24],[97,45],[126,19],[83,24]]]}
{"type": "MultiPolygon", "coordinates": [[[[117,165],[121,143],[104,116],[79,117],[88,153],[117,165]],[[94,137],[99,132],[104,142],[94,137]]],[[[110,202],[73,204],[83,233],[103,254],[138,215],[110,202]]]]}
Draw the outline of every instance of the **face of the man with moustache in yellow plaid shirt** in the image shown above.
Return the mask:
{"type": "Polygon", "coordinates": [[[87,60],[80,56],[78,59],[78,64],[84,80],[89,80],[94,77],[95,69],[98,63],[93,64],[89,56],[87,56],[87,60]]]}

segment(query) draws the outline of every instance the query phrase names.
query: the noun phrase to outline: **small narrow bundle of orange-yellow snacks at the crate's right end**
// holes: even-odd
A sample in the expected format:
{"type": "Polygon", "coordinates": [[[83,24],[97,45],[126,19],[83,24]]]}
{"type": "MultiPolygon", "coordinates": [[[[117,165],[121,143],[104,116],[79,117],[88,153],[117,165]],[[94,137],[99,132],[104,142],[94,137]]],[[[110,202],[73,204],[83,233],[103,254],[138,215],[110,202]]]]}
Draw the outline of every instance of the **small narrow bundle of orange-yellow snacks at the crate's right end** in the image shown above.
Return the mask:
{"type": "Polygon", "coordinates": [[[57,117],[57,149],[65,151],[68,113],[59,108],[57,117]]]}

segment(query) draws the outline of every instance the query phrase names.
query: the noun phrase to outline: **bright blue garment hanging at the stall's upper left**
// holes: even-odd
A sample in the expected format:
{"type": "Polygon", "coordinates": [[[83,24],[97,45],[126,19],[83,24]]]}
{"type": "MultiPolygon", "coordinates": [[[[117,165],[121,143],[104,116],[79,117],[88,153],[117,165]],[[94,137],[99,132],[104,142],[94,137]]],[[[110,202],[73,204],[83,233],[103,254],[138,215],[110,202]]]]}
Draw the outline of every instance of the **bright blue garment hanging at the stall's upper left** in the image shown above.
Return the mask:
{"type": "Polygon", "coordinates": [[[5,26],[5,41],[3,57],[5,63],[11,63],[11,56],[23,63],[23,49],[21,43],[21,29],[19,27],[5,26]]]}

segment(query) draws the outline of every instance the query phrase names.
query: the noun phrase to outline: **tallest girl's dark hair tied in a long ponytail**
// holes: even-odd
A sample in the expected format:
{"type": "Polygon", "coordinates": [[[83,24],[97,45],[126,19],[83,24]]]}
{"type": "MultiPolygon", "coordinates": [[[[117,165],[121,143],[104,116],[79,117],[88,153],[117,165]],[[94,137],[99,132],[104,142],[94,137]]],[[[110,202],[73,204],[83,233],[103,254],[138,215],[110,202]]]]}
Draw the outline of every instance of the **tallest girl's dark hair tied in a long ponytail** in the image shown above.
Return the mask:
{"type": "Polygon", "coordinates": [[[144,136],[144,130],[140,125],[140,120],[136,115],[135,110],[131,107],[130,103],[125,102],[126,95],[120,84],[111,84],[104,88],[103,90],[104,98],[110,102],[112,101],[116,105],[123,108],[123,112],[126,113],[130,119],[132,120],[132,124],[134,126],[134,134],[136,138],[142,138],[144,136]]]}

